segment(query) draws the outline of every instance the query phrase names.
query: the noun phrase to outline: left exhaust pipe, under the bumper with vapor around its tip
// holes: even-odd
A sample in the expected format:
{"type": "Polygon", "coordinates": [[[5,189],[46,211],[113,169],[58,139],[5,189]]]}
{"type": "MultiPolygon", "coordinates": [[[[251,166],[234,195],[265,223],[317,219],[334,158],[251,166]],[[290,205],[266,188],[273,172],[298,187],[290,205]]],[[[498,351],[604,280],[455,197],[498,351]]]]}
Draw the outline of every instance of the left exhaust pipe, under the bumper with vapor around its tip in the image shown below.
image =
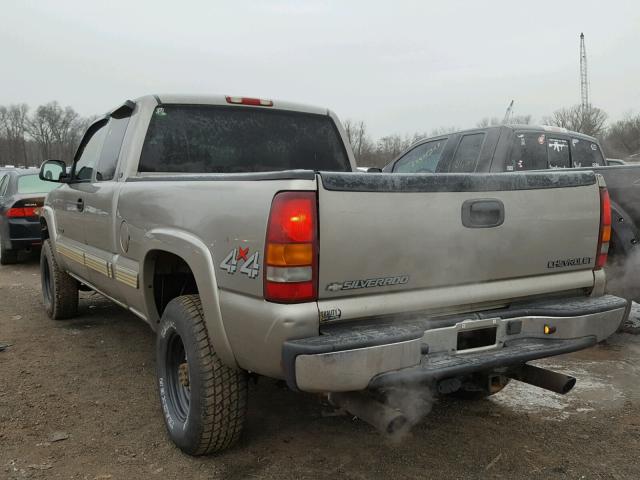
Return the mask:
{"type": "Polygon", "coordinates": [[[402,412],[362,392],[330,393],[329,402],[388,435],[398,433],[409,426],[409,420],[402,412]]]}

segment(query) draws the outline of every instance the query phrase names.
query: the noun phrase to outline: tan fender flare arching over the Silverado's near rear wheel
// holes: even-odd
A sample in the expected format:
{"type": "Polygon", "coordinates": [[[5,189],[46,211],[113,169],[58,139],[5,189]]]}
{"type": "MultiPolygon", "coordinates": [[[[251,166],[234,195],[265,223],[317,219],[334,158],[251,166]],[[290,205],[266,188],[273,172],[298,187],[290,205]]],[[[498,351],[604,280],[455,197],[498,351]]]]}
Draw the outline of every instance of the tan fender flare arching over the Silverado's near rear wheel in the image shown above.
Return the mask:
{"type": "Polygon", "coordinates": [[[140,285],[145,290],[144,301],[152,326],[155,327],[160,319],[153,295],[146,288],[153,284],[153,278],[150,278],[153,275],[150,254],[154,251],[165,251],[182,258],[193,272],[213,348],[225,365],[239,368],[222,320],[215,266],[207,245],[195,235],[173,228],[149,230],[145,233],[143,245],[144,250],[140,255],[140,285]]]}

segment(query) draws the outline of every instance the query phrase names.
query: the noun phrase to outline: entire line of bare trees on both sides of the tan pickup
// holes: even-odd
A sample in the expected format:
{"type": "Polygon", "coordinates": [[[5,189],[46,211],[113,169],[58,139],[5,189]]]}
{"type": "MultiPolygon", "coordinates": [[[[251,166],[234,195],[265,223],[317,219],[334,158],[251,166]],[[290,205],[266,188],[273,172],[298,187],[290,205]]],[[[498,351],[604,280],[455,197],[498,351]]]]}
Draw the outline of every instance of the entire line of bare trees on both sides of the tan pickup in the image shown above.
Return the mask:
{"type": "MultiPolygon", "coordinates": [[[[84,131],[94,118],[82,117],[72,107],[62,107],[55,101],[34,110],[24,103],[0,105],[0,166],[39,166],[52,158],[70,164],[84,131]]],[[[629,115],[611,124],[607,120],[608,115],[600,108],[584,109],[575,105],[554,111],[540,123],[594,136],[610,158],[640,155],[640,115],[629,115]]],[[[476,126],[501,123],[497,117],[485,117],[476,126]]],[[[531,115],[514,116],[506,123],[529,125],[533,118],[531,115]]],[[[370,167],[386,165],[421,138],[460,130],[457,126],[447,126],[429,132],[392,134],[374,139],[363,121],[349,119],[344,127],[358,165],[370,167]]]]}

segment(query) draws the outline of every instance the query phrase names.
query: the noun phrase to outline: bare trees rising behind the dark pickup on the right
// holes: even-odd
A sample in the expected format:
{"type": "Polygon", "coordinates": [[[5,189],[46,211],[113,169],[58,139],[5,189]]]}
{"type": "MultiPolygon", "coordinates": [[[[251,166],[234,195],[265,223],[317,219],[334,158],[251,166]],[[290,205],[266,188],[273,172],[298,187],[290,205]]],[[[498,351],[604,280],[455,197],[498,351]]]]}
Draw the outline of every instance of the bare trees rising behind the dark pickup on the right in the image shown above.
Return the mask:
{"type": "MultiPolygon", "coordinates": [[[[580,105],[560,108],[543,117],[541,124],[563,127],[574,132],[596,137],[609,158],[629,159],[640,156],[640,114],[628,115],[622,120],[608,124],[608,115],[598,107],[582,108],[580,105]]],[[[483,128],[492,125],[531,125],[531,115],[512,116],[506,122],[497,117],[485,117],[476,123],[483,128]]],[[[456,126],[440,127],[430,132],[416,132],[413,135],[388,135],[373,139],[363,121],[348,119],[345,131],[353,148],[358,165],[383,167],[397,155],[421,138],[435,137],[461,130],[456,126]]],[[[640,158],[637,158],[640,161],[640,158]]]]}

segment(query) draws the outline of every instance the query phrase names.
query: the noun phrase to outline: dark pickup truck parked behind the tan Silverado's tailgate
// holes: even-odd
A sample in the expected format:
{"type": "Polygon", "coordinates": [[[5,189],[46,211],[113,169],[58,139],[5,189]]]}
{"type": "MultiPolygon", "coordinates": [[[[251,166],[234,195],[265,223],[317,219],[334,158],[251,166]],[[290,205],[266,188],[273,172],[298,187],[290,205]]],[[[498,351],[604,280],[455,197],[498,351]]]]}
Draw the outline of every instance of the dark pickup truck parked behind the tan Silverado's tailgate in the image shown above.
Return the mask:
{"type": "Polygon", "coordinates": [[[640,165],[605,158],[596,138],[547,125],[475,128],[419,140],[383,171],[500,173],[566,168],[593,170],[604,177],[612,215],[607,291],[640,300],[640,165]]]}

